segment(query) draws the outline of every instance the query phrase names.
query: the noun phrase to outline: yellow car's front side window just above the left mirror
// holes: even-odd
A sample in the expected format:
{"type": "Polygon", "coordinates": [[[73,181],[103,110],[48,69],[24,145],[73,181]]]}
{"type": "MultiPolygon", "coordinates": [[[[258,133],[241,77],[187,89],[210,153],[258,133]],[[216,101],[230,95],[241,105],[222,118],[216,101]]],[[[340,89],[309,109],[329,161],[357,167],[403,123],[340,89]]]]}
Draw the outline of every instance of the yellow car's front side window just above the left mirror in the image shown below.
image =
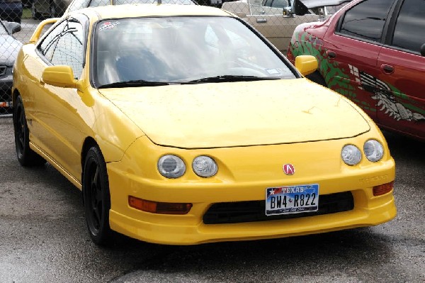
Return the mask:
{"type": "Polygon", "coordinates": [[[66,23],[67,25],[64,26],[62,34],[57,40],[52,56],[52,64],[72,67],[74,75],[78,79],[83,70],[84,60],[83,26],[78,21],[73,21],[72,18],[66,23]]]}

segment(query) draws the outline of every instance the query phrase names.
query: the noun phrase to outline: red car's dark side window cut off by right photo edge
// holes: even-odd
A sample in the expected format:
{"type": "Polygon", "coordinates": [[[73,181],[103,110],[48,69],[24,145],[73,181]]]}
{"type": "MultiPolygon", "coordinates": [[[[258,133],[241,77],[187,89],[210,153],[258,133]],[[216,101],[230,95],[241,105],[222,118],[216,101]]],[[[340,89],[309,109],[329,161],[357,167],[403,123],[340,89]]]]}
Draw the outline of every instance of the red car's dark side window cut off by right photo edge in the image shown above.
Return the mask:
{"type": "Polygon", "coordinates": [[[405,0],[395,24],[392,45],[420,52],[425,43],[425,1],[405,0]]]}

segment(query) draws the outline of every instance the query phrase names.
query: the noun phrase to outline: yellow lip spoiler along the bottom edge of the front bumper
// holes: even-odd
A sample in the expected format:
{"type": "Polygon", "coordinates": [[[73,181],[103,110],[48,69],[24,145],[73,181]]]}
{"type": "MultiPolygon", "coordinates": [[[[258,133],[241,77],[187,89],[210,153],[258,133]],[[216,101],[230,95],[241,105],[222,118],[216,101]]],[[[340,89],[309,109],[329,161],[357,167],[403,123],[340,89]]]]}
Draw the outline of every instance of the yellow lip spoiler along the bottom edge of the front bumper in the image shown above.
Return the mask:
{"type": "Polygon", "coordinates": [[[392,194],[387,194],[385,201],[373,208],[355,208],[341,213],[251,223],[176,225],[173,223],[176,216],[169,216],[169,221],[164,223],[148,223],[113,210],[109,213],[110,225],[114,231],[149,243],[166,245],[196,245],[325,233],[375,226],[390,221],[395,216],[395,201],[392,194]]]}

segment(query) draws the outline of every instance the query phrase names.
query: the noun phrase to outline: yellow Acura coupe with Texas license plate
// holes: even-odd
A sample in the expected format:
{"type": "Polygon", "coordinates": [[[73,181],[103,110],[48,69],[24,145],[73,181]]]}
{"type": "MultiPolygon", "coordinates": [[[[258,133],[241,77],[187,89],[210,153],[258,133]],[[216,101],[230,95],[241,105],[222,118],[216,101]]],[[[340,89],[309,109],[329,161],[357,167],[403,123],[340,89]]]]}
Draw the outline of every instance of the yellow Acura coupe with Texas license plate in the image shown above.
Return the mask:
{"type": "Polygon", "coordinates": [[[390,221],[395,162],[382,133],[303,77],[314,57],[295,67],[212,7],[45,20],[14,65],[18,161],[47,161],[82,190],[98,245],[114,231],[191,245],[390,221]]]}

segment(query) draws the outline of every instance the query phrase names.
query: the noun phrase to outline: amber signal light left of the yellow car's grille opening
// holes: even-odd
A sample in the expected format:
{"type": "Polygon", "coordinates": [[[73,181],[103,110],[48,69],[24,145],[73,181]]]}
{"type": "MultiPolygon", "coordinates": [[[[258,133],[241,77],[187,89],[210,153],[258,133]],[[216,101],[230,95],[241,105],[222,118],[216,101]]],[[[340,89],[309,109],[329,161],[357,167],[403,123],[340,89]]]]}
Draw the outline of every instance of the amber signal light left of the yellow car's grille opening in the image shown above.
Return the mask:
{"type": "Polygon", "coordinates": [[[134,209],[158,214],[187,214],[192,208],[192,204],[147,201],[135,196],[128,196],[128,205],[134,209]]]}

